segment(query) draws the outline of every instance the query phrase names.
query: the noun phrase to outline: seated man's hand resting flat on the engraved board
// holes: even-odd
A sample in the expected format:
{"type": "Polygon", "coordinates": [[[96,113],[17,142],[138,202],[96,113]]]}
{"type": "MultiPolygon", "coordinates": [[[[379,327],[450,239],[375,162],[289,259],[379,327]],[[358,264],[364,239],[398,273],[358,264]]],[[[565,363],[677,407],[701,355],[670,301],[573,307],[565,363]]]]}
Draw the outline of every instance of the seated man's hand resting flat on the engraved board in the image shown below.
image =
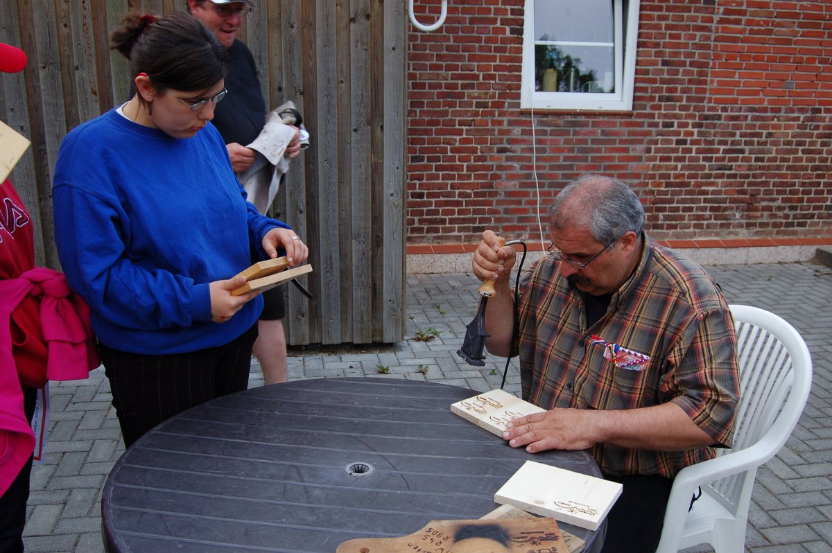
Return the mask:
{"type": "Polygon", "coordinates": [[[526,446],[529,453],[587,449],[597,442],[593,438],[597,413],[587,409],[552,409],[515,418],[506,425],[503,440],[511,447],[526,446]]]}

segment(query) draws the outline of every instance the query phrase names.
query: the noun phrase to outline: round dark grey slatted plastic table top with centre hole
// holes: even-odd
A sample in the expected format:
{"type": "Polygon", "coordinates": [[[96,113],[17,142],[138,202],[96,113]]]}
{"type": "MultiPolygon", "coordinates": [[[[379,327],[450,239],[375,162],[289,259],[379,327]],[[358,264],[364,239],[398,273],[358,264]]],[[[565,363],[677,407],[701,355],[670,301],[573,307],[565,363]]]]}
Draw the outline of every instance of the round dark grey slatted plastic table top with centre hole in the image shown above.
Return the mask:
{"type": "MultiPolygon", "coordinates": [[[[193,407],[116,462],[102,497],[106,551],[334,552],[354,538],[479,518],[527,460],[601,476],[587,452],[531,455],[450,412],[476,393],[322,378],[193,407]]],[[[560,526],[600,549],[603,526],[560,526]]]]}

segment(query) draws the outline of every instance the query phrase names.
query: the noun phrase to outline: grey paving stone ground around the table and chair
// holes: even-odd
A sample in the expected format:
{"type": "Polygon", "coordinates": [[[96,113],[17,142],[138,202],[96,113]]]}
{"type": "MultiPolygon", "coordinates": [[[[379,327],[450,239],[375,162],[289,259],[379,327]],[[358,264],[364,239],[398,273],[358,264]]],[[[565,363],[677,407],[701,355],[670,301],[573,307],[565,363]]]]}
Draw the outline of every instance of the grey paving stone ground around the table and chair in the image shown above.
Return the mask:
{"type": "MultiPolygon", "coordinates": [[[[752,553],[832,552],[832,269],[818,264],[721,265],[709,268],[733,304],[768,309],[803,334],[815,363],[812,393],[799,426],[760,468],[745,549],[752,553]]],[[[468,274],[408,276],[403,342],[363,348],[293,348],[289,378],[380,376],[453,384],[478,391],[500,386],[505,359],[468,366],[456,355],[478,295],[468,274]],[[419,335],[438,336],[430,342],[419,335]]],[[[252,367],[250,387],[263,384],[252,367]]],[[[505,387],[519,393],[516,362],[505,387]]],[[[103,369],[84,381],[53,383],[45,462],[32,471],[26,551],[102,553],[101,495],[124,451],[103,369]]],[[[712,551],[709,547],[691,553],[712,551]]]]}

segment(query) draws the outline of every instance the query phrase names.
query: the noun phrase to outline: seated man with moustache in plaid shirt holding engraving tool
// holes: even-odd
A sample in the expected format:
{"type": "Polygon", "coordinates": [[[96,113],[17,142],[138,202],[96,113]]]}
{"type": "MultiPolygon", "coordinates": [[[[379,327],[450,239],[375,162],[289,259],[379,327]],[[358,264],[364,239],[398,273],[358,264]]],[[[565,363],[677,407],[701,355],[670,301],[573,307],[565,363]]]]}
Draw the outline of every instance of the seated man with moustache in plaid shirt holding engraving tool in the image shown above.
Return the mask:
{"type": "Polygon", "coordinates": [[[551,239],[523,271],[516,313],[513,249],[486,230],[473,257],[474,274],[498,291],[486,347],[519,353],[523,397],[548,409],[503,437],[532,453],[589,449],[624,485],[604,553],[655,551],[676,472],[730,447],[733,320],[705,269],[646,236],[641,202],[620,180],[584,175],[562,190],[551,239]]]}

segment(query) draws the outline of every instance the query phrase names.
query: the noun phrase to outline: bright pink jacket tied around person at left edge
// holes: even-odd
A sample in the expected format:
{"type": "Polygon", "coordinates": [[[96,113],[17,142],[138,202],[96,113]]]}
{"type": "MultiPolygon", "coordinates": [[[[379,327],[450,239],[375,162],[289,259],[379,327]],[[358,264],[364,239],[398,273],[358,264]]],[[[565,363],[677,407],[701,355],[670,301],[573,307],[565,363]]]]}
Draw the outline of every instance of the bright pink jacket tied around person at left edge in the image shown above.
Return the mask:
{"type": "Polygon", "coordinates": [[[12,356],[12,312],[27,297],[40,302],[49,380],[87,378],[89,371],[101,364],[89,308],[71,293],[62,273],[36,268],[17,279],[0,280],[0,494],[32,455],[35,444],[22,411],[22,388],[12,356]]]}

